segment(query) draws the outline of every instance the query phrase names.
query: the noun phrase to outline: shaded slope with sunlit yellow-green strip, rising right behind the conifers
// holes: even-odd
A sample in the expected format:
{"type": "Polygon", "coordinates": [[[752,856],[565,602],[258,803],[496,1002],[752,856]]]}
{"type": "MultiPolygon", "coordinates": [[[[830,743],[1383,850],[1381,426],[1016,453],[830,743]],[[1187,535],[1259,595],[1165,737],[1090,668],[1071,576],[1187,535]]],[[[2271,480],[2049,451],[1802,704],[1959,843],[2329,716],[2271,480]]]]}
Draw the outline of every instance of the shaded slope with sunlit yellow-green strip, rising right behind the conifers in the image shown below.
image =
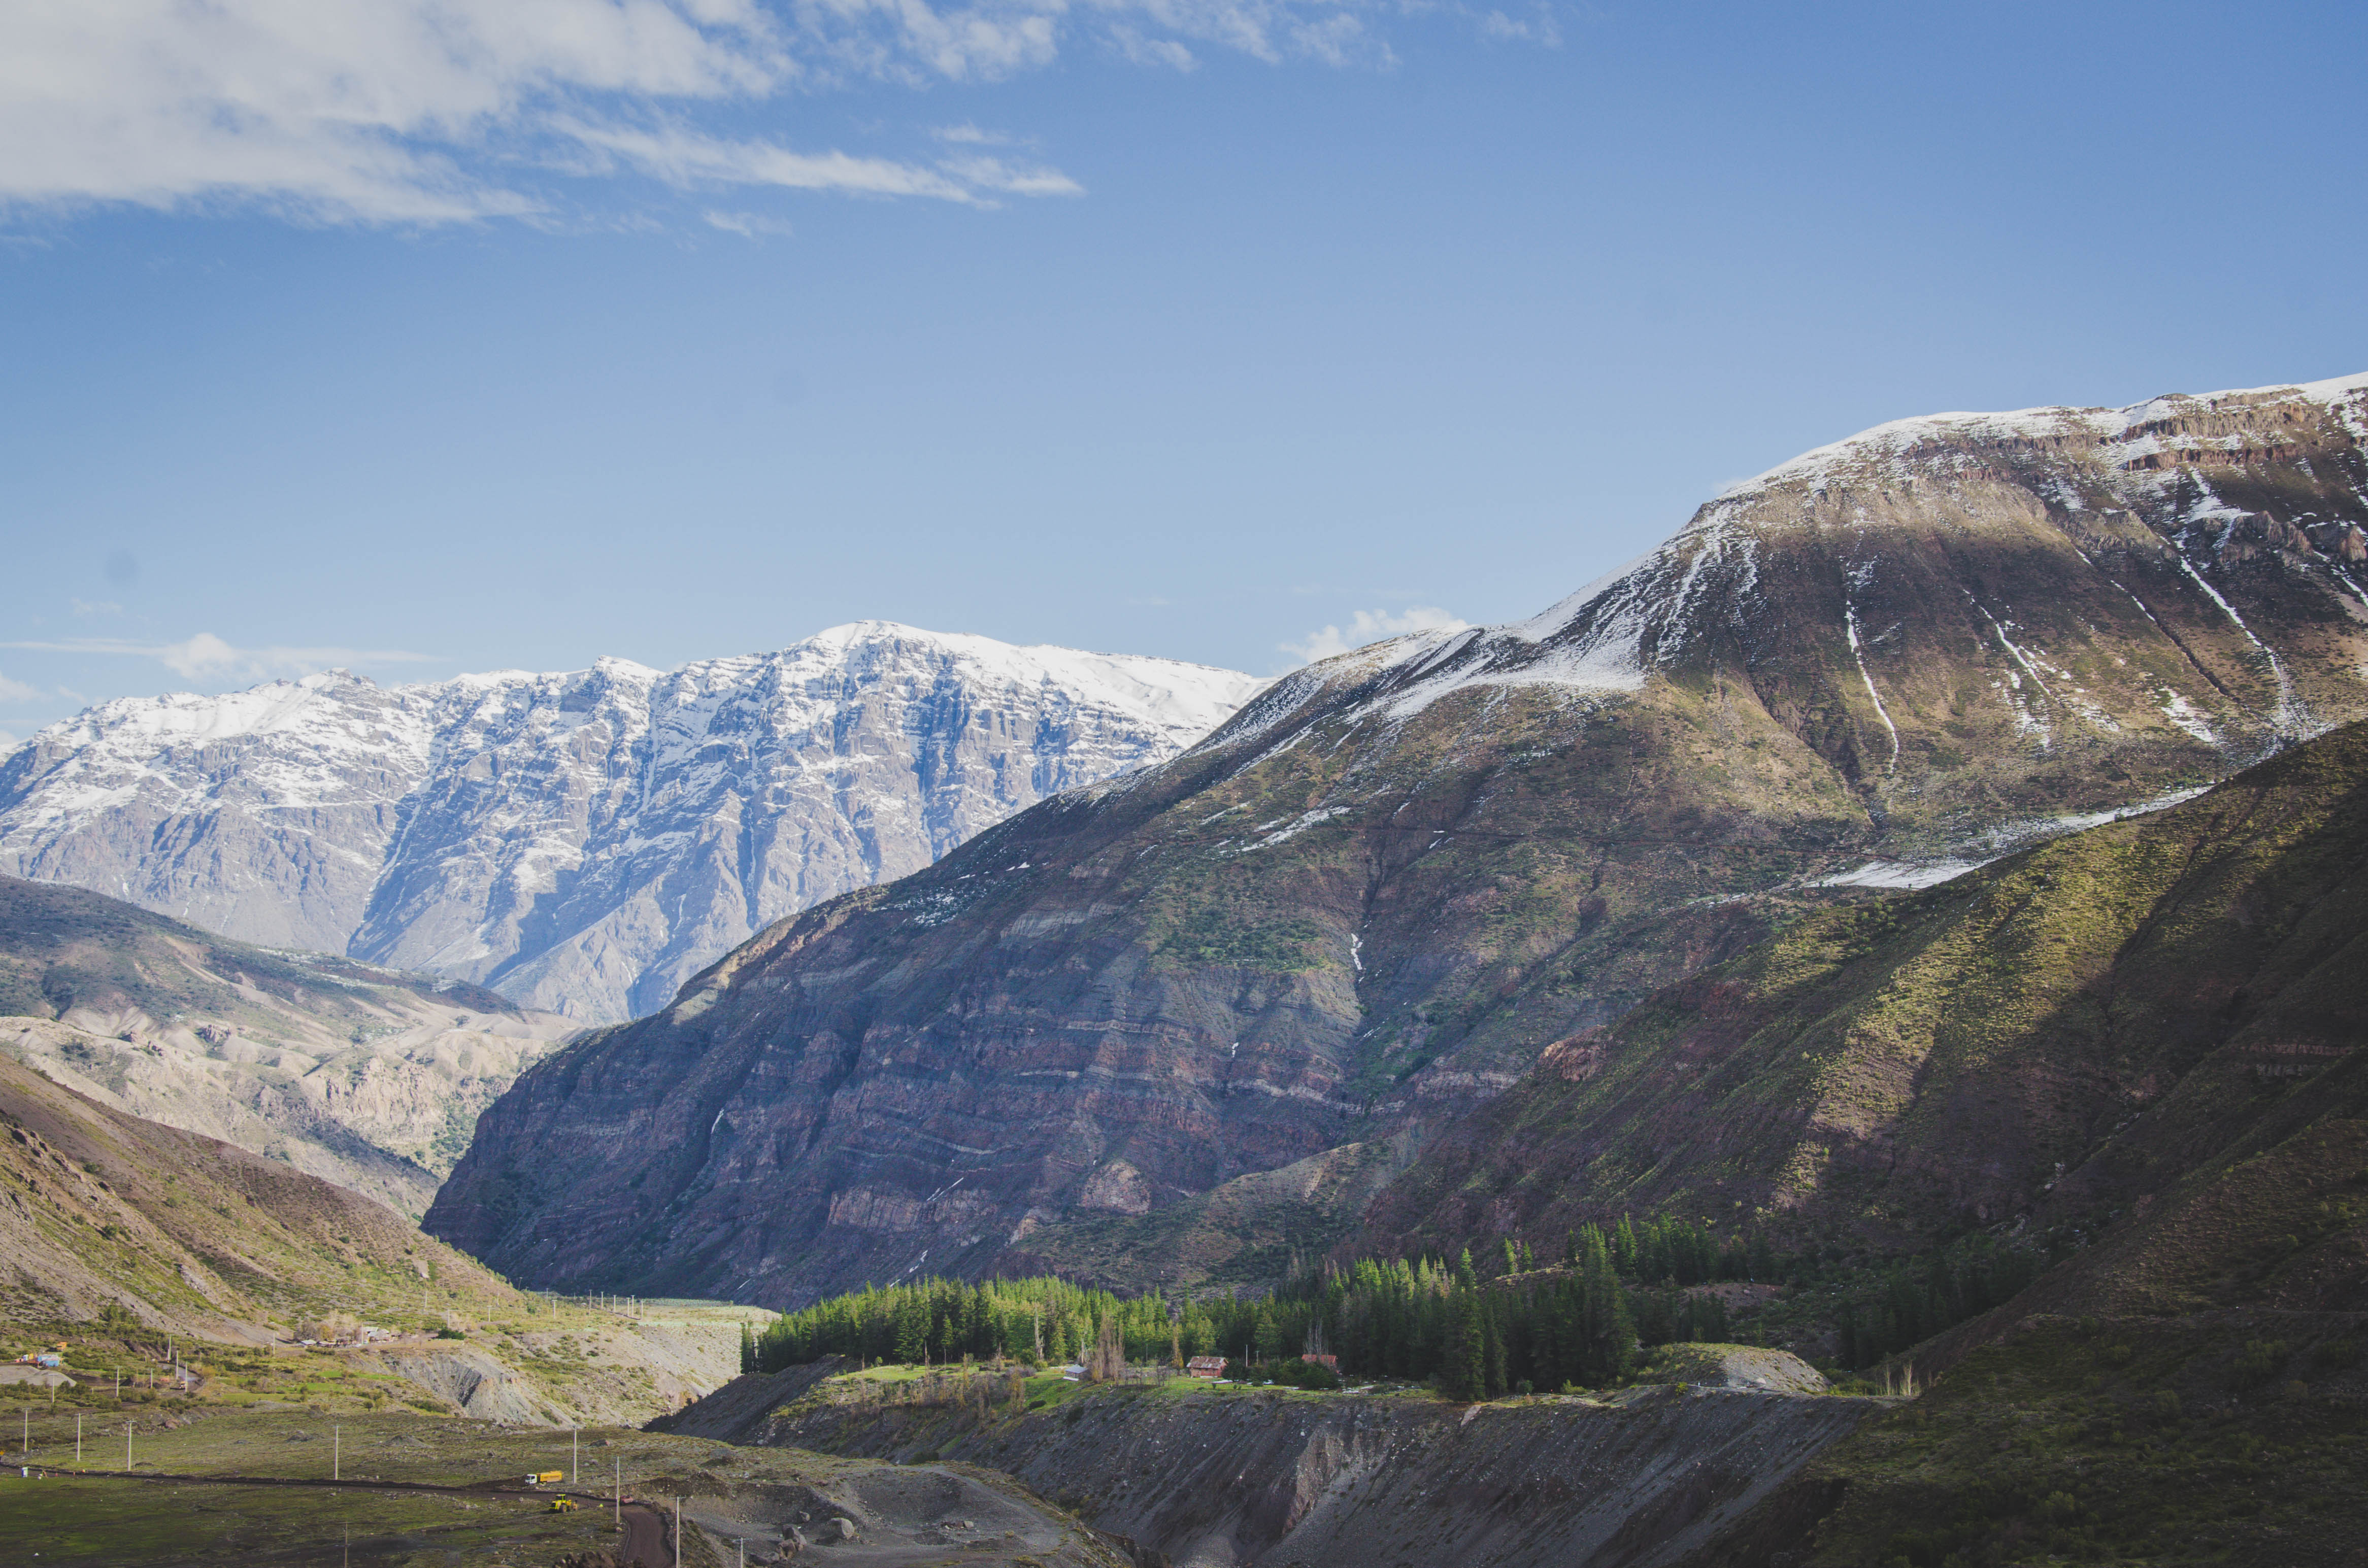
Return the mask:
{"type": "Polygon", "coordinates": [[[1551,1047],[1359,1248],[1700,1213],[1923,1246],[2143,1213],[2368,1033],[2368,725],[2171,810],[1819,912],[1551,1047]]]}

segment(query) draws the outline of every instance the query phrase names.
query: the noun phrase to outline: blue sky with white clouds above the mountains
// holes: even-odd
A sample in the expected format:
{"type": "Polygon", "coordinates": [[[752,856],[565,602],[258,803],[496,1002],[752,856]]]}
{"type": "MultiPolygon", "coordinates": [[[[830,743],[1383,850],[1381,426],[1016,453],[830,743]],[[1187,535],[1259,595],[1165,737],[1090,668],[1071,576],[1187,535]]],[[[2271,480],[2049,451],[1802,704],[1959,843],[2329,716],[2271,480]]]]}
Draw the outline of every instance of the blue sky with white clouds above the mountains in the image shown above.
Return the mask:
{"type": "Polygon", "coordinates": [[[12,0],[0,746],[905,621],[1276,673],[2368,369],[2359,5],[12,0]]]}

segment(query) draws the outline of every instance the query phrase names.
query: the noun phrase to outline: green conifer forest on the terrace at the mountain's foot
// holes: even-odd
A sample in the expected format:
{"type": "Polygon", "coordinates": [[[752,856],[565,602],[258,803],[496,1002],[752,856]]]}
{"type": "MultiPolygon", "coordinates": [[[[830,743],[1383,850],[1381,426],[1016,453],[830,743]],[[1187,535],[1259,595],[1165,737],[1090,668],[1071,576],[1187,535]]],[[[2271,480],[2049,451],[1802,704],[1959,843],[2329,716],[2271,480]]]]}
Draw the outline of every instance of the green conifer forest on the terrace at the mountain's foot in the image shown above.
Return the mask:
{"type": "Polygon", "coordinates": [[[1880,1267],[1821,1267],[1764,1236],[1707,1222],[1622,1217],[1563,1239],[1561,1255],[1497,1241],[1456,1258],[1359,1258],[1257,1296],[1120,1298],[1066,1279],[921,1279],[834,1296],[786,1312],[746,1348],[758,1371],[824,1355],[867,1362],[1077,1362],[1111,1322],[1125,1360],[1182,1364],[1222,1355],[1243,1376],[1293,1381],[1302,1352],[1331,1352],[1345,1376],[1435,1381],[1480,1400],[1601,1388],[1653,1345],[1762,1334],[1738,1322],[1729,1281],[1823,1286],[1840,1367],[1868,1367],[2020,1291],[2046,1262],[1989,1236],[1880,1267]]]}

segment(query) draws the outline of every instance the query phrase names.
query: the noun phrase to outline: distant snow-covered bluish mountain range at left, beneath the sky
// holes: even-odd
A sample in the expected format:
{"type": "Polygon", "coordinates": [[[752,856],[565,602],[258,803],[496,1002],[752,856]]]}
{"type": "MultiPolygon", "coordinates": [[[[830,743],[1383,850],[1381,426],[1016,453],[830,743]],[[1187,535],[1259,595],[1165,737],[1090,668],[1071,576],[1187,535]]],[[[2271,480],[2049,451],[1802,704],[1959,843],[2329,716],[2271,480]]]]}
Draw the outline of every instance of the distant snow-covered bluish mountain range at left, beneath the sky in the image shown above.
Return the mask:
{"type": "Polygon", "coordinates": [[[0,765],[0,872],[623,1018],[781,914],[1175,756],[1255,687],[860,621],[680,670],[118,699],[0,765]]]}

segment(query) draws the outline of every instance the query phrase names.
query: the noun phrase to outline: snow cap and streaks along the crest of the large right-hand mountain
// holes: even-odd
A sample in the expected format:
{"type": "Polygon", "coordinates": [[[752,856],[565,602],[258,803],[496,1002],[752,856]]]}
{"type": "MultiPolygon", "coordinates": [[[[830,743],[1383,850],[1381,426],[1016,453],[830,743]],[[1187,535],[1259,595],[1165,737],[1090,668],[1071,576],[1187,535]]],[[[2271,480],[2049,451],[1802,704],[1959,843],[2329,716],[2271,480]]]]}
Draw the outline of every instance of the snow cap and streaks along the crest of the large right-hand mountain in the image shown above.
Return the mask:
{"type": "MultiPolygon", "coordinates": [[[[2254,635],[2214,587],[2214,576],[2254,557],[2276,559],[2295,576],[2316,578],[2337,602],[2349,602],[2344,613],[2368,621],[2368,535],[2337,509],[2276,516],[2278,507],[2264,505],[2266,497],[2247,493],[2233,502],[2224,488],[2235,483],[2250,490],[2257,464],[2306,462],[2304,452],[2328,433],[2351,450],[2368,445],[2368,372],[2292,386],[2169,393],[2129,407],[2058,405],[1894,419],[1729,486],[1669,540],[1527,621],[1409,632],[1354,649],[1276,682],[1241,722],[1250,725],[1257,713],[1288,715],[1319,685],[1343,680],[1373,682],[1364,711],[1383,720],[1414,718],[1468,687],[1634,694],[1650,670],[1686,656],[1712,628],[1748,625],[1767,604],[1762,550],[1828,507],[1833,516],[1814,526],[1849,538],[1835,630],[1852,649],[1859,685],[1887,730],[1897,763],[1897,732],[1868,673],[1868,651],[1885,632],[1875,625],[1861,632],[1861,602],[1911,547],[1904,550],[1892,533],[1883,512],[1890,502],[1878,497],[1935,483],[2010,483],[2044,497],[2060,519],[2089,514],[2091,523],[2072,528],[2086,545],[2070,550],[2124,597],[2126,568],[2112,576],[2100,561],[2126,554],[2131,542],[2117,535],[2138,516],[2148,519],[2157,538],[2145,540],[2145,552],[2200,592],[2271,670],[2276,696],[2266,706],[2269,727],[2292,741],[2325,727],[2325,720],[2295,706],[2283,656],[2254,635]],[[1710,613],[1712,604],[1717,613],[1710,613]]],[[[2349,488],[2340,469],[2330,469],[2328,481],[2349,488]]],[[[1987,526],[1970,516],[1954,521],[1968,540],[1987,526]]],[[[1984,604],[1975,597],[1968,604],[1984,625],[1984,640],[1996,640],[2018,663],[2003,701],[2018,703],[2025,734],[2051,737],[2060,722],[2105,722],[2063,666],[2015,637],[2015,611],[2003,599],[1984,604]]],[[[2200,668],[2188,675],[2209,680],[2200,668]]],[[[2202,720],[2202,701],[2195,689],[2160,685],[2162,713],[2221,746],[2226,725],[2214,730],[2202,720]]]]}

